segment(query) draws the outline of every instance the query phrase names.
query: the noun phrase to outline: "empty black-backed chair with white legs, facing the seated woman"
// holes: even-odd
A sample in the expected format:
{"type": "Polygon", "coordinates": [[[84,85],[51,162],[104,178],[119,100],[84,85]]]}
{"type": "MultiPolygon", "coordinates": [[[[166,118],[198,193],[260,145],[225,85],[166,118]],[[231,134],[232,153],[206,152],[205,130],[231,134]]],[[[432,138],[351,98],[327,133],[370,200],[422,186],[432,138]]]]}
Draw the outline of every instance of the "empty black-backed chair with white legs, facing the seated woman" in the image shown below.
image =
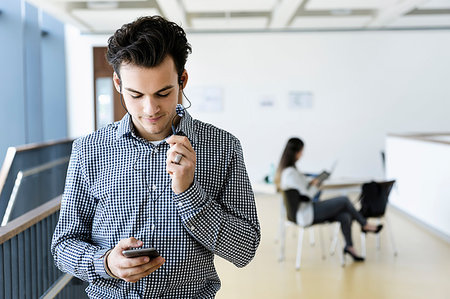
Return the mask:
{"type": "MultiPolygon", "coordinates": [[[[378,223],[381,222],[381,218],[384,218],[386,222],[386,230],[388,231],[389,238],[391,239],[394,256],[397,256],[397,247],[395,246],[394,235],[392,233],[391,225],[388,216],[386,215],[386,206],[389,199],[389,194],[392,187],[395,184],[395,180],[385,182],[370,182],[362,185],[360,213],[366,219],[377,218],[378,223]]],[[[377,249],[380,249],[380,234],[376,235],[377,249]]],[[[361,255],[366,257],[366,234],[361,231],[361,255]]]]}

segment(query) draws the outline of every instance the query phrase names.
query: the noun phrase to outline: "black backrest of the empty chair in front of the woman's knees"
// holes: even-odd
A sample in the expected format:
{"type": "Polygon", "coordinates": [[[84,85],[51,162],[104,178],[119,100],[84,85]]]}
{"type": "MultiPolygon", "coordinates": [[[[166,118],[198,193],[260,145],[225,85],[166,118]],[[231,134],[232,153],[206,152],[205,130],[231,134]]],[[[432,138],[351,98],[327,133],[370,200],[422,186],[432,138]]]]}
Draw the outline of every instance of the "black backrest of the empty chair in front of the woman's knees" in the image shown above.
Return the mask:
{"type": "Polygon", "coordinates": [[[386,212],[389,193],[395,180],[386,182],[370,182],[362,185],[360,196],[361,210],[364,217],[381,217],[386,212]]]}

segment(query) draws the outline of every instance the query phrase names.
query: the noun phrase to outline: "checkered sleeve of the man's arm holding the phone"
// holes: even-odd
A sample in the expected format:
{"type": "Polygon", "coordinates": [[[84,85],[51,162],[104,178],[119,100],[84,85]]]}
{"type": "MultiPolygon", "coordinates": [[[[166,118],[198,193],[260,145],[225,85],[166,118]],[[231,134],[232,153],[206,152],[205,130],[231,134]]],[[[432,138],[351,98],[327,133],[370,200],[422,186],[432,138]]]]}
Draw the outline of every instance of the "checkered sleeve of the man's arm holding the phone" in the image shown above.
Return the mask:
{"type": "Polygon", "coordinates": [[[103,258],[110,248],[91,244],[92,221],[97,206],[90,195],[77,141],[72,147],[66,185],[58,224],[53,234],[51,252],[56,266],[84,281],[109,278],[103,258]]]}

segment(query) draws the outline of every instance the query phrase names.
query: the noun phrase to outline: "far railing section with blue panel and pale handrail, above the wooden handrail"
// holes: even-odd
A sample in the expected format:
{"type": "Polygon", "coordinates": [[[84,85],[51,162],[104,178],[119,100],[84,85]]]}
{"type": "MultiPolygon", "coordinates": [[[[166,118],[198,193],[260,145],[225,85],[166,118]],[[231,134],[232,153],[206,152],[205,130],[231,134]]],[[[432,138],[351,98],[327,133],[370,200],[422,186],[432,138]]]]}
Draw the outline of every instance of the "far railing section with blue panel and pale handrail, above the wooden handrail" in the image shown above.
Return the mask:
{"type": "Polygon", "coordinates": [[[8,148],[0,170],[0,224],[63,192],[71,139],[8,148]]]}

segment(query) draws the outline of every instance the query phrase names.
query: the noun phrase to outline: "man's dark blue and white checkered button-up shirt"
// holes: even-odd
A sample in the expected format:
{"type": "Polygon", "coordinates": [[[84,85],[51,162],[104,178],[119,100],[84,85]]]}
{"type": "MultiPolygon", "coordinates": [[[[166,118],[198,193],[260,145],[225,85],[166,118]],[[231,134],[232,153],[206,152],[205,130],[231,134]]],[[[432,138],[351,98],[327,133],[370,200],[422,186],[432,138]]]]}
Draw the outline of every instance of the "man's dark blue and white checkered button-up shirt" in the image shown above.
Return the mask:
{"type": "Polygon", "coordinates": [[[177,112],[197,156],[194,182],[178,195],[169,145],[136,136],[128,114],[74,141],[52,254],[59,269],[89,282],[91,298],[213,298],[214,255],[237,267],[255,255],[260,227],[239,140],[180,105],[177,112]],[[110,277],[103,264],[129,237],[166,259],[137,283],[110,277]]]}

